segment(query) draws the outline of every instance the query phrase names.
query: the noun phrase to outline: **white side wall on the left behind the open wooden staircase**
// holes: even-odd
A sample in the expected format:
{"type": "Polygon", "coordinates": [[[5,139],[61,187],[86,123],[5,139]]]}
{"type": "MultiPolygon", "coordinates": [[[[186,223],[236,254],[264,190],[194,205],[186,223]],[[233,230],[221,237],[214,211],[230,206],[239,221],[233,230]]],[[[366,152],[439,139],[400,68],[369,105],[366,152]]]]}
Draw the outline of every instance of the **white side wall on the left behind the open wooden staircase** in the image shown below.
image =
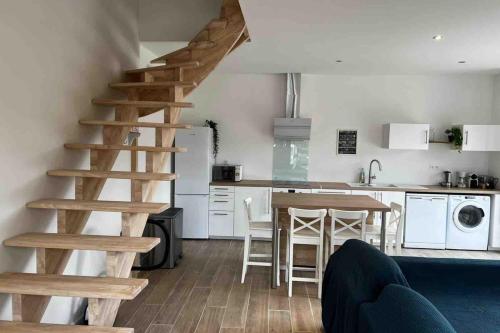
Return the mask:
{"type": "MultiPolygon", "coordinates": [[[[23,232],[56,230],[55,212],[30,210],[30,200],[74,195],[73,179],[54,179],[54,168],[88,168],[88,152],[65,142],[98,142],[100,129],[81,118],[111,116],[92,107],[107,84],[139,59],[137,0],[4,0],[0,11],[0,241],[23,232]]],[[[121,156],[125,169],[128,158],[121,156]]],[[[129,185],[109,183],[103,198],[127,200],[129,185]]],[[[118,234],[120,215],[92,214],[85,230],[118,234]]],[[[0,246],[0,271],[35,271],[34,251],[0,246]]],[[[66,274],[99,275],[102,253],[75,252],[66,274]]],[[[46,322],[77,319],[81,301],[54,298],[46,322]]],[[[10,319],[10,299],[0,296],[0,318],[10,319]]]]}

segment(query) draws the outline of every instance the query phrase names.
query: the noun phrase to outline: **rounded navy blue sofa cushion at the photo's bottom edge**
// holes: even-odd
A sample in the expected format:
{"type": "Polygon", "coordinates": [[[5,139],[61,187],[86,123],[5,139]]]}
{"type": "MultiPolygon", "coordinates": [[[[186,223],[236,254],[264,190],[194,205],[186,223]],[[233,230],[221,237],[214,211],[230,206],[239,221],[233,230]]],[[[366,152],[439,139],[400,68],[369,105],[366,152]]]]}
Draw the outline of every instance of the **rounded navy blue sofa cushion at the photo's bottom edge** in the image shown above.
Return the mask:
{"type": "Polygon", "coordinates": [[[359,310],[359,333],[456,333],[431,302],[410,288],[390,284],[359,310]]]}

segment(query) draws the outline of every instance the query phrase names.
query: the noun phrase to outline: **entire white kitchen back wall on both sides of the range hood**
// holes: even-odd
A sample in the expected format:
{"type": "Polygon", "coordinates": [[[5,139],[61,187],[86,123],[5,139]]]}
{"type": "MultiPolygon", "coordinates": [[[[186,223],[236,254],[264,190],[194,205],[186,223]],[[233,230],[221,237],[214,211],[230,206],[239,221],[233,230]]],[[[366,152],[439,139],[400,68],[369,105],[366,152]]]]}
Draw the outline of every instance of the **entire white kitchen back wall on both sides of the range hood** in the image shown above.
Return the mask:
{"type": "MultiPolygon", "coordinates": [[[[188,97],[195,108],[183,111],[182,120],[217,121],[218,161],[242,163],[247,179],[271,179],[272,119],[284,111],[284,82],[283,75],[213,74],[188,97]]],[[[303,75],[301,116],[313,119],[309,179],[356,181],[373,158],[383,165],[381,183],[437,184],[447,169],[487,173],[488,153],[458,153],[444,144],[428,151],[383,149],[382,124],[430,123],[443,139],[451,124],[490,123],[492,103],[491,76],[303,75]],[[357,156],[335,153],[337,129],[346,128],[359,131],[357,156]]]]}

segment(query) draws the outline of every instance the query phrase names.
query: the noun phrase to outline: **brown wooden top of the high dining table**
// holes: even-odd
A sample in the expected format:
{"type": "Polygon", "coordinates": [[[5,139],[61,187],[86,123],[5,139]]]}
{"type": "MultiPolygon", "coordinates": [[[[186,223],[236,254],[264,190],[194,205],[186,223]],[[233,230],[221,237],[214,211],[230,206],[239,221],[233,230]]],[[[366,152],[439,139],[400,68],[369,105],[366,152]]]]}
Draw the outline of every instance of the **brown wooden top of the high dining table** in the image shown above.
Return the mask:
{"type": "Polygon", "coordinates": [[[273,208],[367,210],[390,212],[391,208],[367,195],[273,193],[273,208]]]}

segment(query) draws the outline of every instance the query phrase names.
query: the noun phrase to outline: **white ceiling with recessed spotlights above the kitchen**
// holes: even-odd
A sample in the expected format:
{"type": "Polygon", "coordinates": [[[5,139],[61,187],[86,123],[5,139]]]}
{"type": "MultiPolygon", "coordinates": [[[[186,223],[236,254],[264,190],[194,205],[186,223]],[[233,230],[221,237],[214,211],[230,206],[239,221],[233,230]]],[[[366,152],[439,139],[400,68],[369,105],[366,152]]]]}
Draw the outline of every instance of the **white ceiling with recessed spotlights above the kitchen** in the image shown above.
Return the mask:
{"type": "Polygon", "coordinates": [[[223,71],[500,73],[500,0],[240,2],[252,42],[223,71]]]}

